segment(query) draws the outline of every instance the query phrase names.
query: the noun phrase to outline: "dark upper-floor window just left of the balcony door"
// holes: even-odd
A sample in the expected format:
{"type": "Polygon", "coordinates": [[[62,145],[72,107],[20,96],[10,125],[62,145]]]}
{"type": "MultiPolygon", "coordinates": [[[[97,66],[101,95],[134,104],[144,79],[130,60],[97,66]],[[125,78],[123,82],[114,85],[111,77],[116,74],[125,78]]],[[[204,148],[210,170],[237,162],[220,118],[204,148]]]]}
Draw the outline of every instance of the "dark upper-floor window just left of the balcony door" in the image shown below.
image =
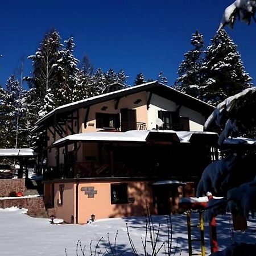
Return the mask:
{"type": "Polygon", "coordinates": [[[96,113],[96,128],[119,128],[119,114],[96,113]]]}

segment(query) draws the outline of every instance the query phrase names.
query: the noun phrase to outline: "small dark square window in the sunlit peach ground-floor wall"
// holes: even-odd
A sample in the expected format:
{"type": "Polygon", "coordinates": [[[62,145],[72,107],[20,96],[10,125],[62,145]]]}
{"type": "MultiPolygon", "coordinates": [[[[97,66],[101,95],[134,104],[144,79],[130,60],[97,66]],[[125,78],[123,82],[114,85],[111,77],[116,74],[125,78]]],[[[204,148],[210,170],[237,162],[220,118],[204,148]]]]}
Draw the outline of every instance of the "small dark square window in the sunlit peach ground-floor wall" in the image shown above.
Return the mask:
{"type": "Polygon", "coordinates": [[[128,193],[127,183],[110,184],[111,186],[111,204],[127,204],[128,193]]]}

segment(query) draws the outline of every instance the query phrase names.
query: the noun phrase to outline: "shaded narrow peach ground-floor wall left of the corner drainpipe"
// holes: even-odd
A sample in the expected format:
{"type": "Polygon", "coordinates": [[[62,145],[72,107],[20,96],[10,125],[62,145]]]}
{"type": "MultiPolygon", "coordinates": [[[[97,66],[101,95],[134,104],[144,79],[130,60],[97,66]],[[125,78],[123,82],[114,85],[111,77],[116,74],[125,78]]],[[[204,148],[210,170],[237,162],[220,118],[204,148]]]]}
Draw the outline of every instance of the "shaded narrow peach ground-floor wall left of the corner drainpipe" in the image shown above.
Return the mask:
{"type": "Polygon", "coordinates": [[[54,207],[56,217],[63,218],[65,222],[71,223],[71,216],[75,217],[75,184],[55,183],[54,184],[54,207]],[[60,197],[59,186],[64,184],[63,205],[58,204],[60,197]]]}

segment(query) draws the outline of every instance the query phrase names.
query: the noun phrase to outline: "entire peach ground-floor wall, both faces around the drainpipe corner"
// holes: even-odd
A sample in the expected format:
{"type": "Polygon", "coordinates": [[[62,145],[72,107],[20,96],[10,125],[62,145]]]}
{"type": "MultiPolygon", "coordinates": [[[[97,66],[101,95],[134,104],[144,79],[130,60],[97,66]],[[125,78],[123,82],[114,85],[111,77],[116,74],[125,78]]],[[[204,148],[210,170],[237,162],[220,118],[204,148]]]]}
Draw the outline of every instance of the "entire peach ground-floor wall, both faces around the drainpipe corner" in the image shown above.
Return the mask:
{"type": "MultiPolygon", "coordinates": [[[[125,216],[143,216],[146,213],[147,200],[148,207],[151,213],[155,213],[152,207],[152,189],[148,187],[147,181],[123,181],[128,184],[128,198],[134,197],[134,203],[127,204],[111,204],[110,199],[110,182],[98,183],[80,183],[78,189],[78,222],[79,224],[86,223],[90,216],[94,214],[97,219],[113,218],[125,216]],[[90,198],[85,195],[85,191],[81,188],[93,187],[97,194],[90,198]]],[[[55,208],[56,217],[63,218],[65,222],[71,222],[71,216],[75,216],[76,206],[76,184],[75,183],[57,183],[55,184],[55,208]],[[59,185],[64,184],[63,205],[57,205],[59,199],[59,185]]],[[[75,220],[76,221],[76,220],[75,220]]]]}

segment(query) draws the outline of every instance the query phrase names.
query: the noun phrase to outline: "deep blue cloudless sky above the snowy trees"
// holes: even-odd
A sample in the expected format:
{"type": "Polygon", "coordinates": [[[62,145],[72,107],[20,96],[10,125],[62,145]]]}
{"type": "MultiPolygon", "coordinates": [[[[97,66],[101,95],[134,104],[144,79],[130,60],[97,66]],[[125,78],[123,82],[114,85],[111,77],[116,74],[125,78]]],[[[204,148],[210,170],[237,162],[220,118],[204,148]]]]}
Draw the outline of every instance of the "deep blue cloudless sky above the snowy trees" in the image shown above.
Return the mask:
{"type": "MultiPolygon", "coordinates": [[[[158,73],[173,84],[190,39],[199,30],[205,45],[215,34],[230,0],[1,0],[0,85],[20,66],[30,75],[31,60],[44,34],[56,28],[61,38],[73,36],[77,59],[89,55],[94,68],[123,69],[128,84],[143,72],[156,79],[158,73]]],[[[250,76],[256,79],[256,24],[237,22],[228,34],[250,76]]]]}

